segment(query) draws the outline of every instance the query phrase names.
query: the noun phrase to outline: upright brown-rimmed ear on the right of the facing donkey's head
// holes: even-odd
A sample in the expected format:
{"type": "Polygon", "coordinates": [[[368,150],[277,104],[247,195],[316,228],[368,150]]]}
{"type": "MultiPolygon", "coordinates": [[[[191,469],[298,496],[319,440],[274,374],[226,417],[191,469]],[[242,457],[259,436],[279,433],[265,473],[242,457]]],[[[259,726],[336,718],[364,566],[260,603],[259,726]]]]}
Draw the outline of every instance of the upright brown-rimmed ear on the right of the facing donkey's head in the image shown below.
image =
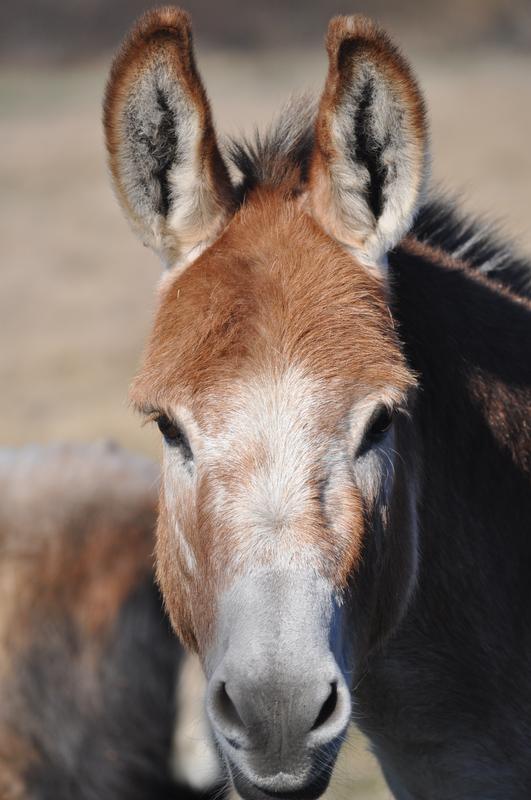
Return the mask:
{"type": "Polygon", "coordinates": [[[424,103],[409,66],[363,17],[336,17],[309,168],[311,211],[376,266],[410,227],[427,177],[424,103]]]}

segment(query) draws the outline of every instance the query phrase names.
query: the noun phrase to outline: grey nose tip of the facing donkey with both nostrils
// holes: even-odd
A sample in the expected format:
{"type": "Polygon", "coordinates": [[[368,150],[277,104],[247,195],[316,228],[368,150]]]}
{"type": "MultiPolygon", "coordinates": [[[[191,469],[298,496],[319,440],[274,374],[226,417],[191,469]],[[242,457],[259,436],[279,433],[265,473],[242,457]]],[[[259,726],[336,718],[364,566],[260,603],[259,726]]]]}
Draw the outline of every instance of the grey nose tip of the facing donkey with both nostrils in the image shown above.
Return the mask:
{"type": "Polygon", "coordinates": [[[296,752],[325,745],[343,731],[350,697],[339,674],[299,682],[231,676],[212,687],[209,712],[229,746],[290,761],[296,752]]]}

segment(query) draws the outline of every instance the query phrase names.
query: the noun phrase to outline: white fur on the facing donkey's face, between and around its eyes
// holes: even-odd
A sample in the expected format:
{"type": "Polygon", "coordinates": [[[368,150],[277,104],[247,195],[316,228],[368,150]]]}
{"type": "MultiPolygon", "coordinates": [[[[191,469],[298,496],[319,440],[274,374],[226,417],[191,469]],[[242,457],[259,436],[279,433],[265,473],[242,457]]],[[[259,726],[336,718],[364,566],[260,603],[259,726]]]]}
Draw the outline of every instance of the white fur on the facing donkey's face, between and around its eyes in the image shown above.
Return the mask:
{"type": "Polygon", "coordinates": [[[332,436],[322,425],[333,411],[327,397],[329,387],[290,366],[235,382],[223,397],[211,392],[207,402],[217,420],[224,408],[219,430],[206,422],[200,431],[187,409],[173,409],[195,459],[186,461],[179,448],[165,445],[164,491],[175,544],[190,574],[197,571],[197,557],[186,529],[193,524],[200,475],[213,476],[212,516],[228,532],[214,537],[212,558],[226,559],[229,552],[236,571],[252,572],[264,564],[319,571],[321,548],[310,537],[304,540],[304,532],[322,524],[323,500],[351,480],[370,503],[382,490],[387,494],[395,468],[392,430],[359,458],[357,451],[375,409],[402,396],[392,387],[367,392],[352,406],[343,432],[332,436]],[[216,477],[220,469],[221,478],[216,477]],[[319,497],[322,479],[330,494],[319,497]]]}

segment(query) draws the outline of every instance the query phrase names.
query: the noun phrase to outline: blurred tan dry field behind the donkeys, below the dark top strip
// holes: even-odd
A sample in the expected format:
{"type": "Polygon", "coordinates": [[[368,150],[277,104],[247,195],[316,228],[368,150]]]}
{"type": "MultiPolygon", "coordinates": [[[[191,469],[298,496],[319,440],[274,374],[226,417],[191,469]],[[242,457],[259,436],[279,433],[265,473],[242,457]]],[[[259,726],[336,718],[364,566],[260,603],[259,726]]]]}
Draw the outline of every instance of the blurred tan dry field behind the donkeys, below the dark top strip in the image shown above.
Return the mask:
{"type": "MultiPolygon", "coordinates": [[[[530,253],[531,59],[480,50],[413,61],[430,108],[435,181],[501,220],[530,253]]],[[[231,133],[266,122],[325,70],[320,51],[211,52],[200,65],[220,129],[231,133]]],[[[158,437],[129,410],[127,387],[159,265],[130,234],[107,180],[105,70],[0,76],[0,442],[113,438],[156,456],[158,437]]],[[[389,797],[359,738],[348,751],[331,796],[389,797]]]]}

